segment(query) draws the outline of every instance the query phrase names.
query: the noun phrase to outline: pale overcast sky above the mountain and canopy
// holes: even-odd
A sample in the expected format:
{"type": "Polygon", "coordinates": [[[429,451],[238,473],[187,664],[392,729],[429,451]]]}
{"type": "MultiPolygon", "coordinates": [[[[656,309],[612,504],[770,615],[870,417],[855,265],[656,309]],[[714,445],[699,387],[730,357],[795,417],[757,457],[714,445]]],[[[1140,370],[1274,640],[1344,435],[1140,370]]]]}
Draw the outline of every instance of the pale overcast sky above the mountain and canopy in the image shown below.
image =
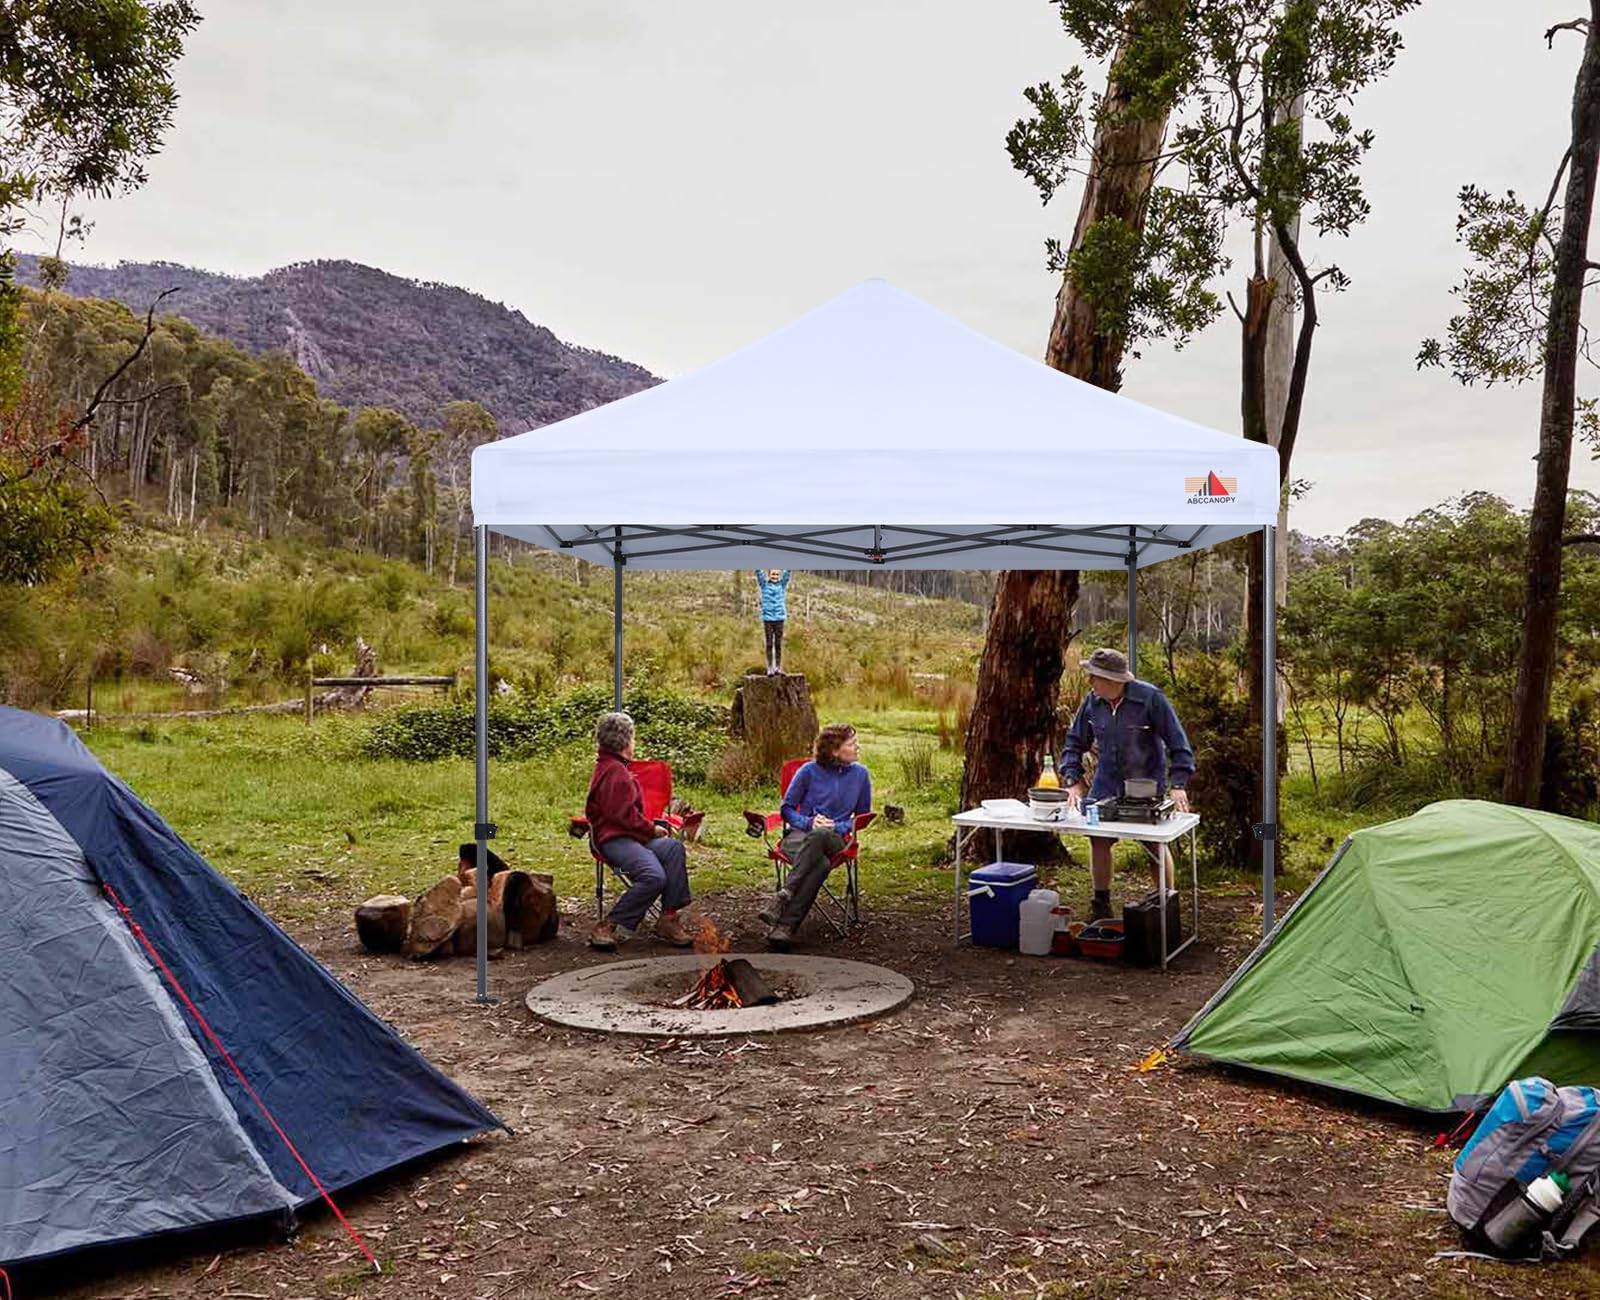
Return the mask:
{"type": "MultiPolygon", "coordinates": [[[[350,258],[666,376],[869,275],[1043,349],[1043,240],[1078,195],[1042,208],[1003,138],[1021,88],[1075,59],[1048,0],[198,3],[166,150],[91,210],[91,261],[350,258]]],[[[1542,30],[1579,10],[1426,0],[1357,104],[1373,216],[1318,250],[1352,287],[1323,306],[1298,527],[1531,495],[1536,389],[1464,391],[1413,359],[1451,312],[1459,186],[1549,186],[1581,43],[1542,30]]],[[[1125,391],[1237,432],[1232,317],[1152,346],[1125,391]]],[[[1574,483],[1600,490],[1582,451],[1574,483]]]]}

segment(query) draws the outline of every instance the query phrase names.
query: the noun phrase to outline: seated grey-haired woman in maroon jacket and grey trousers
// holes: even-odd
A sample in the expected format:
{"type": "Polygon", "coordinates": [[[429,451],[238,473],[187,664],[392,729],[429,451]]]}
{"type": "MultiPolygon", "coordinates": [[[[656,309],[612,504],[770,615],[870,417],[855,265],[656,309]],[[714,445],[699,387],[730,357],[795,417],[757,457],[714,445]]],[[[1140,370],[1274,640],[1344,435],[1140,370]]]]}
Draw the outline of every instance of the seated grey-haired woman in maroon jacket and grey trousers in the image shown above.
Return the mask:
{"type": "Polygon", "coordinates": [[[595,773],[589,778],[584,817],[600,857],[627,882],[610,916],[589,933],[589,945],[610,953],[645,919],[650,905],[661,900],[656,938],[677,948],[693,940],[678,911],[690,905],[690,873],[683,845],[645,817],[645,792],[627,770],[634,759],[634,719],[608,712],[595,724],[595,773]]]}

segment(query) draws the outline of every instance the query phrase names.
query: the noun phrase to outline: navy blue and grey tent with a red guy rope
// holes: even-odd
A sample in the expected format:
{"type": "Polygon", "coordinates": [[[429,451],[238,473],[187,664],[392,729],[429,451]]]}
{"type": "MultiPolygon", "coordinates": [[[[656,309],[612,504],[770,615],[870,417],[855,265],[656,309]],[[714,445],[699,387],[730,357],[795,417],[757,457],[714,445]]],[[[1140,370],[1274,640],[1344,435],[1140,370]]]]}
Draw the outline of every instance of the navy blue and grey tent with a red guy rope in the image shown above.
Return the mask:
{"type": "Polygon", "coordinates": [[[66,725],[8,708],[0,951],[0,1265],[291,1222],[318,1183],[501,1127],[66,725]]]}

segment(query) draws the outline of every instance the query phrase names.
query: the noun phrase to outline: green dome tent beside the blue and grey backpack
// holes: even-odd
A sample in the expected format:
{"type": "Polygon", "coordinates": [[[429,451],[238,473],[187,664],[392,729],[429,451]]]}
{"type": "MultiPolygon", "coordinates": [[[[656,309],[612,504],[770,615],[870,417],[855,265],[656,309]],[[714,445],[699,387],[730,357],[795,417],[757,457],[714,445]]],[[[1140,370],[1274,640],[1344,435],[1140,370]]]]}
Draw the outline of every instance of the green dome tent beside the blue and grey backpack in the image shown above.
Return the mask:
{"type": "Polygon", "coordinates": [[[1600,1084],[1600,826],[1456,799],[1352,834],[1176,1047],[1424,1111],[1600,1084]]]}

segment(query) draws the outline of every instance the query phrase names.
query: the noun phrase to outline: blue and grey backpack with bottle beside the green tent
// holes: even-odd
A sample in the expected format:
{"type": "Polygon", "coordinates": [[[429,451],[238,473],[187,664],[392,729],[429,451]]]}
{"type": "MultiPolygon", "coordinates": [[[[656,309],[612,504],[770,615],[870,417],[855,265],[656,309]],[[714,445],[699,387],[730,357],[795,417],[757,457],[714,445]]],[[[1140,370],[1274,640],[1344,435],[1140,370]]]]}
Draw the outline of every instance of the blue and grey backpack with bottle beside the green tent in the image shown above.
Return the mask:
{"type": "Polygon", "coordinates": [[[1450,1175],[1450,1217],[1480,1249],[1504,1254],[1485,1225],[1534,1178],[1562,1172],[1570,1188],[1542,1250],[1570,1254],[1600,1218],[1600,1092],[1517,1079],[1490,1106],[1450,1175]]]}

